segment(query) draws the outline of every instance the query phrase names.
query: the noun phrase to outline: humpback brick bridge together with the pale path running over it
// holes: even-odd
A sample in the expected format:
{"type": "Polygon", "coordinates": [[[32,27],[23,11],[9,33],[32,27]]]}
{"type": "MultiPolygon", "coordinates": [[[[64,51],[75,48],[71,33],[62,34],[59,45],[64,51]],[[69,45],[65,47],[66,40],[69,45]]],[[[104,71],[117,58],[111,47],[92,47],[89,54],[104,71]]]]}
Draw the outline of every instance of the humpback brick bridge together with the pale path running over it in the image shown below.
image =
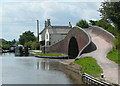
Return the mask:
{"type": "Polygon", "coordinates": [[[75,59],[92,56],[103,69],[105,80],[120,84],[118,64],[106,58],[113,47],[113,39],[115,37],[111,33],[97,26],[84,28],[84,30],[73,27],[63,40],[50,46],[47,52],[63,53],[75,59]]]}

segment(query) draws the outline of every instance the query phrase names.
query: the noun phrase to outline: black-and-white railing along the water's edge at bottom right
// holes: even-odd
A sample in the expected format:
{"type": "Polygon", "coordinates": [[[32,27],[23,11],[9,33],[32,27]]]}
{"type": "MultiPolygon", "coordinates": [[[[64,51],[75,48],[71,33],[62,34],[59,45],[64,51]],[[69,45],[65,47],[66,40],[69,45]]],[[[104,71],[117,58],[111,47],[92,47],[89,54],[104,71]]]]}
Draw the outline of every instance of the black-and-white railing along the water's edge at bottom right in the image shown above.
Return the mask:
{"type": "Polygon", "coordinates": [[[94,78],[87,73],[84,73],[82,75],[82,79],[84,83],[89,84],[91,86],[113,86],[112,84],[105,81],[101,81],[97,78],[94,78]]]}

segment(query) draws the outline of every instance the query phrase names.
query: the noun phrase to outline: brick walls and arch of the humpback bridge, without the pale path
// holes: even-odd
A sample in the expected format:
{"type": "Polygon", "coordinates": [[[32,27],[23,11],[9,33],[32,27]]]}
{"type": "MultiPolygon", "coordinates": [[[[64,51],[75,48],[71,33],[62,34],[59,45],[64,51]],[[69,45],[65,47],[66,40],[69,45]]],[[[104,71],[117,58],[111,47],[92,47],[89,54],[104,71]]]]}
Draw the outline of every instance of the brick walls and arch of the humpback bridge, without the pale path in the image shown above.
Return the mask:
{"type": "MultiPolygon", "coordinates": [[[[93,33],[98,34],[108,42],[114,39],[110,33],[100,27],[94,26],[88,28],[88,30],[89,29],[92,29],[93,33]]],[[[68,55],[70,58],[76,58],[82,53],[92,52],[96,49],[97,47],[92,42],[91,36],[86,29],[75,26],[68,32],[63,40],[50,47],[46,47],[46,52],[62,53],[68,55]]]]}

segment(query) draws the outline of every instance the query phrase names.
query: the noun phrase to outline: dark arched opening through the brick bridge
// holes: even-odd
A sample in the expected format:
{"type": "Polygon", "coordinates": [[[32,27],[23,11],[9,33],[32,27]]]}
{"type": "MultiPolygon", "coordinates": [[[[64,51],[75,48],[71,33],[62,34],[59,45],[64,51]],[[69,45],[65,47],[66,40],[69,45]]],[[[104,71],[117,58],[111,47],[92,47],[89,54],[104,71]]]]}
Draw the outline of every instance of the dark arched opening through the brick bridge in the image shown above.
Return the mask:
{"type": "Polygon", "coordinates": [[[68,56],[70,58],[76,58],[79,54],[79,47],[75,37],[71,37],[68,45],[68,56]]]}

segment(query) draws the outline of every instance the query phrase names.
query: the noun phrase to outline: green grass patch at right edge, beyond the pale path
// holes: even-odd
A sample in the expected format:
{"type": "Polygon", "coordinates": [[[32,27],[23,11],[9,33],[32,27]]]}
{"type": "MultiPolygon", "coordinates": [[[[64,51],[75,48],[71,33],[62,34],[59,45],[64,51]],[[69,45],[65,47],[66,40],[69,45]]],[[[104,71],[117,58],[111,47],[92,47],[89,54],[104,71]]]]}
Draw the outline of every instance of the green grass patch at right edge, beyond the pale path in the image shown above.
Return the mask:
{"type": "Polygon", "coordinates": [[[112,50],[107,54],[107,58],[111,61],[114,61],[117,64],[120,64],[120,58],[118,57],[118,50],[112,50]]]}

